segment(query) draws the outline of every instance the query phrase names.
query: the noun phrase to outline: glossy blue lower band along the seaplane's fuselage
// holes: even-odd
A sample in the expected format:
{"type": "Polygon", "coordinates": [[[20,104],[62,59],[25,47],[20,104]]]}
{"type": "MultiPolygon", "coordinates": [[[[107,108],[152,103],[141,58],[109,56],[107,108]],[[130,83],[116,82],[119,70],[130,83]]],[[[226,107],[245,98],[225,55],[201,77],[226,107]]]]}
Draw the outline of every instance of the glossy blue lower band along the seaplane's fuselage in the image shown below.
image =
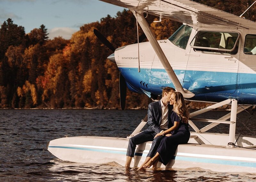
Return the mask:
{"type": "MultiPolygon", "coordinates": [[[[161,95],[161,87],[174,87],[164,69],[140,68],[140,72],[138,68],[119,69],[132,91],[143,93],[140,90],[143,89],[161,95]]],[[[192,70],[174,72],[181,85],[195,94],[192,100],[220,102],[235,98],[239,104],[256,102],[256,74],[192,70]]]]}

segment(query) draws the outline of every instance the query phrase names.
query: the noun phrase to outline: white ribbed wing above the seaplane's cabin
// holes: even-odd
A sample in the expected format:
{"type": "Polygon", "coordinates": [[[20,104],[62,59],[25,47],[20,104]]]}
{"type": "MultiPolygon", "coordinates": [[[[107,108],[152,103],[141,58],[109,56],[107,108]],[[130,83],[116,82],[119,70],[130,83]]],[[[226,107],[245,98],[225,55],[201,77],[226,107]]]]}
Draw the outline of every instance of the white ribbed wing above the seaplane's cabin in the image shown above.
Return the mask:
{"type": "Polygon", "coordinates": [[[186,23],[191,27],[250,28],[256,22],[190,0],[100,0],[130,10],[186,23]]]}

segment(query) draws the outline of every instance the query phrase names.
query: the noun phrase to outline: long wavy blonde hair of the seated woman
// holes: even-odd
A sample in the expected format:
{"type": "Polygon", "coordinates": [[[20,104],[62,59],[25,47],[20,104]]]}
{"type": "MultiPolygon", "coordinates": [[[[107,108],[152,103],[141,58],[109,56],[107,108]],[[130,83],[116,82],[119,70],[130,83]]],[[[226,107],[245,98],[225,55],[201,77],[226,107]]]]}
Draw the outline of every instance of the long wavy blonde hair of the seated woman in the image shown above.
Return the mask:
{"type": "Polygon", "coordinates": [[[172,93],[173,95],[173,111],[182,119],[183,123],[188,123],[189,113],[188,107],[186,105],[183,95],[176,91],[172,93]]]}

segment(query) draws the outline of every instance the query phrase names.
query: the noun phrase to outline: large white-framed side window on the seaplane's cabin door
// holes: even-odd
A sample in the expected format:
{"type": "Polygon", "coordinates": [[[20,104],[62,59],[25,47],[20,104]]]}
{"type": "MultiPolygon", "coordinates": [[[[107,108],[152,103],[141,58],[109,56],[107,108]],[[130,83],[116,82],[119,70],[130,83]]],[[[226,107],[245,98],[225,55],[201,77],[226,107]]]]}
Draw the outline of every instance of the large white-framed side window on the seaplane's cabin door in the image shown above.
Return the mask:
{"type": "Polygon", "coordinates": [[[238,33],[199,31],[190,45],[195,51],[236,54],[238,36],[238,33]]]}

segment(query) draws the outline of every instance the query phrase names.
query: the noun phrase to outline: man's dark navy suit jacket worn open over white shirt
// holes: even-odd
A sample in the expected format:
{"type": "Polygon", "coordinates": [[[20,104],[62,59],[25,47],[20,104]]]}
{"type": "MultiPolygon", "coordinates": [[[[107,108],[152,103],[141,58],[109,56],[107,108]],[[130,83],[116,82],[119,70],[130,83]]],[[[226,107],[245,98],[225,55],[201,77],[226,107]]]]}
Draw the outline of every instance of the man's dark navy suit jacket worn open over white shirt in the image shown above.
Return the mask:
{"type": "MultiPolygon", "coordinates": [[[[172,114],[173,105],[168,104],[168,128],[171,128],[173,126],[171,121],[171,114],[172,114]]],[[[148,105],[148,129],[143,131],[144,133],[148,132],[156,132],[160,133],[163,129],[161,129],[160,123],[161,123],[161,117],[162,117],[162,106],[161,106],[161,99],[157,102],[152,102],[148,105]]]]}

